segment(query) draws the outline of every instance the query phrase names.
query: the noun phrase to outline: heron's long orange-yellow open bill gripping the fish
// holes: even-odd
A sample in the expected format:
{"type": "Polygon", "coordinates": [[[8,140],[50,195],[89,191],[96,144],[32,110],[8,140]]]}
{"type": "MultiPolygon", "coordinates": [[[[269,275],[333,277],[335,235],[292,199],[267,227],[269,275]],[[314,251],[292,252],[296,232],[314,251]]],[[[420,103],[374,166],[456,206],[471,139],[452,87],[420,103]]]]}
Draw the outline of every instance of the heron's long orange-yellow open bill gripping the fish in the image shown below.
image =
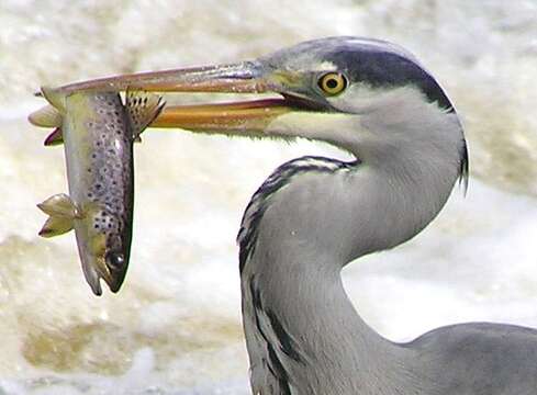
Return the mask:
{"type": "Polygon", "coordinates": [[[166,105],[149,126],[264,136],[268,125],[281,115],[326,109],[325,103],[303,94],[303,86],[301,74],[276,69],[261,60],[255,60],[107,77],[71,83],[59,89],[67,94],[75,91],[136,89],[150,92],[255,94],[253,100],[166,105]]]}

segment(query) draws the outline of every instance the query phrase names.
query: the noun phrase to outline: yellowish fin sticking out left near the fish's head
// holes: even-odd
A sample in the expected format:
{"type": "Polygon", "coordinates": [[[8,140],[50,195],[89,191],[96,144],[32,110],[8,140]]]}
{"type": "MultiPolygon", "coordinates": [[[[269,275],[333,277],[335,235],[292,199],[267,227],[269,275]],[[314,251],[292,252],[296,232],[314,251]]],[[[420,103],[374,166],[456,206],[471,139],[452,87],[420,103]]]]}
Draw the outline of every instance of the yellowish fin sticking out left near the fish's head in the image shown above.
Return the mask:
{"type": "Polygon", "coordinates": [[[65,193],[48,198],[43,203],[37,204],[37,207],[48,214],[45,225],[40,230],[42,237],[59,236],[71,230],[75,218],[80,217],[75,203],[65,193]]]}

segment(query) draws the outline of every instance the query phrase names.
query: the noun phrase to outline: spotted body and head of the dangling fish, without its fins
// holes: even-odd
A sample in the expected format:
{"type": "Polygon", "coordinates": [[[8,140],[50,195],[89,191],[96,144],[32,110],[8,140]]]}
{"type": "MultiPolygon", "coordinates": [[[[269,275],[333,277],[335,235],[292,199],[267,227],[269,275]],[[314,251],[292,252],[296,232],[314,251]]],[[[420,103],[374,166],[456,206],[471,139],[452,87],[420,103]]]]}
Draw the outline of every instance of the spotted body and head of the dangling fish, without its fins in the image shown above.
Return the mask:
{"type": "Polygon", "coordinates": [[[69,194],[86,213],[83,219],[75,221],[82,269],[96,294],[101,293],[99,276],[118,292],[128,267],[132,240],[132,126],[118,93],[75,93],[65,102],[69,194]]]}

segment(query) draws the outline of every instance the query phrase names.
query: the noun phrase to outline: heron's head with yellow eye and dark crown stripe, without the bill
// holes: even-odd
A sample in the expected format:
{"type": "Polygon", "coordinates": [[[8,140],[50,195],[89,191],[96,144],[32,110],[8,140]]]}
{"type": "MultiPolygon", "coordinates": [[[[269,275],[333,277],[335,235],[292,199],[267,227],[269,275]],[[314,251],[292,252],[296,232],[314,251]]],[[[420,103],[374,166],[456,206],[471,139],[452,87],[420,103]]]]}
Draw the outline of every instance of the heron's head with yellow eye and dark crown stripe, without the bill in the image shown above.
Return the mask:
{"type": "Polygon", "coordinates": [[[461,123],[436,79],[404,48],[378,40],[328,37],[257,60],[268,90],[294,109],[265,133],[325,140],[357,157],[385,161],[401,149],[456,153],[467,182],[461,123]]]}

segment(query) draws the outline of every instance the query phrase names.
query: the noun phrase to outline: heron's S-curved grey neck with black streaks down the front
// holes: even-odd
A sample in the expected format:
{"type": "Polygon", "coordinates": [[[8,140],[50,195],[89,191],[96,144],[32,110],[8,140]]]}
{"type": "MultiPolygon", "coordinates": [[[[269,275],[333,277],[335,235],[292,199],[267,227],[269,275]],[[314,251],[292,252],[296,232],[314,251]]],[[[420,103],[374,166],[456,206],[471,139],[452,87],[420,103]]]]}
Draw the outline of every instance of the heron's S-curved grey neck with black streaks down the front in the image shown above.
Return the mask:
{"type": "Polygon", "coordinates": [[[280,171],[287,182],[261,203],[254,196],[243,221],[242,232],[256,232],[247,253],[239,235],[254,394],[385,395],[412,387],[419,372],[411,351],[358,316],[339,272],[406,241],[437,215],[458,177],[456,139],[434,145],[435,153],[402,142],[328,171],[301,159],[304,171],[280,171]]]}

